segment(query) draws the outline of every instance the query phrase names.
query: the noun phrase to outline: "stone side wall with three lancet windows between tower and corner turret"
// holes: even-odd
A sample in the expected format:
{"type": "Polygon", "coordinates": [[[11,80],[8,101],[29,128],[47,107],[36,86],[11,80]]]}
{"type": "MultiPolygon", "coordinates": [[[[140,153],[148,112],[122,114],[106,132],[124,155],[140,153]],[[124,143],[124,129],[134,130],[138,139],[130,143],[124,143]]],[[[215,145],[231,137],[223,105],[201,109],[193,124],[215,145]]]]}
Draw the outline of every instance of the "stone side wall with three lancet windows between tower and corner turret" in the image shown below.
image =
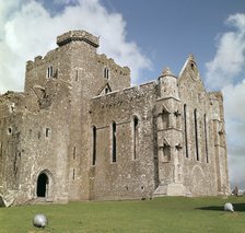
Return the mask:
{"type": "Polygon", "coordinates": [[[112,92],[91,101],[92,126],[96,128],[96,162],[90,162],[91,199],[145,198],[155,188],[154,82],[112,92]],[[139,142],[133,143],[133,119],[139,142]],[[113,162],[113,123],[116,124],[116,162],[113,162]],[[135,151],[135,147],[138,147],[135,151]],[[135,154],[137,152],[137,154],[135,154]]]}

